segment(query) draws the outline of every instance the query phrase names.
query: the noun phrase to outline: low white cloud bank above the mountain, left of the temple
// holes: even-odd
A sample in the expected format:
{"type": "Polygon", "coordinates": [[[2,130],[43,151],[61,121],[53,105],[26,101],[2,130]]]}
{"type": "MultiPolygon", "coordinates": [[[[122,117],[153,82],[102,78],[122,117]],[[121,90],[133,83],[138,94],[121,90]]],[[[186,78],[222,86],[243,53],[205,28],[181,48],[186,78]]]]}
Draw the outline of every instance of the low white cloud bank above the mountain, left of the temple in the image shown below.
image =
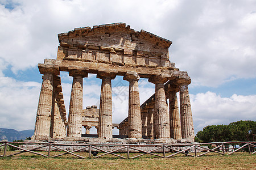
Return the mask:
{"type": "Polygon", "coordinates": [[[0,76],[1,128],[34,129],[40,86],[0,76]]]}

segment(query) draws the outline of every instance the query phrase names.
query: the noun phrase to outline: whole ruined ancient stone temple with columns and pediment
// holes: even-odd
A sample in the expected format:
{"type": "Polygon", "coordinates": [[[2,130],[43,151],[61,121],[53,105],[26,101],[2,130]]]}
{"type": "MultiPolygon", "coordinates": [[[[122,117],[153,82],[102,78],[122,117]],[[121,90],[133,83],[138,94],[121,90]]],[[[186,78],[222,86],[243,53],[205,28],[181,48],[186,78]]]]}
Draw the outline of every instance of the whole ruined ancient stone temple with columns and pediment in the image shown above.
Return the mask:
{"type": "Polygon", "coordinates": [[[92,126],[97,137],[112,139],[112,129],[135,139],[189,139],[194,130],[189,100],[187,72],[170,62],[171,41],[147,31],[134,31],[130,25],[115,23],[93,28],[75,28],[60,33],[56,59],[45,59],[38,68],[43,74],[42,88],[32,139],[72,140],[89,134],[92,126]],[[68,119],[63,100],[60,71],[73,77],[68,119]],[[82,80],[97,74],[102,80],[100,108],[82,109],[82,80]],[[123,76],[129,82],[128,116],[112,123],[112,80],[123,76]],[[155,84],[155,94],[139,102],[140,78],[155,84]],[[177,101],[179,92],[180,106],[177,101]]]}

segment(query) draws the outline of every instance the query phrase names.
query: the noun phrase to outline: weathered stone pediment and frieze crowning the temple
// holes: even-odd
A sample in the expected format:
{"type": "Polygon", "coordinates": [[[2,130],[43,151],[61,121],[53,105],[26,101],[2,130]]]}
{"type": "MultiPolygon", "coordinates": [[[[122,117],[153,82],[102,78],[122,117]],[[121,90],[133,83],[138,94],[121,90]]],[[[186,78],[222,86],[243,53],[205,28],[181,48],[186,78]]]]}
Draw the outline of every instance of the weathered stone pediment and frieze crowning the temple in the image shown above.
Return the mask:
{"type": "Polygon", "coordinates": [[[168,54],[171,41],[147,31],[134,31],[125,23],[75,28],[58,36],[57,59],[174,67],[168,54]]]}

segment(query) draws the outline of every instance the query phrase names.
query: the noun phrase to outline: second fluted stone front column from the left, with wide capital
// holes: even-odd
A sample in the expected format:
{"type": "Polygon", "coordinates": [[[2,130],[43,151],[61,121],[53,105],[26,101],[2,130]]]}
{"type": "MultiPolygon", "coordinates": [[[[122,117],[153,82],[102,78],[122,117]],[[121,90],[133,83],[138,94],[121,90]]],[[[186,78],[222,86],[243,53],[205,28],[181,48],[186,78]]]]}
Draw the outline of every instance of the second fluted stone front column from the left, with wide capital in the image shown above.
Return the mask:
{"type": "Polygon", "coordinates": [[[73,76],[73,84],[69,103],[67,137],[82,135],[82,78],[88,76],[88,69],[69,67],[69,76],[73,76]]]}

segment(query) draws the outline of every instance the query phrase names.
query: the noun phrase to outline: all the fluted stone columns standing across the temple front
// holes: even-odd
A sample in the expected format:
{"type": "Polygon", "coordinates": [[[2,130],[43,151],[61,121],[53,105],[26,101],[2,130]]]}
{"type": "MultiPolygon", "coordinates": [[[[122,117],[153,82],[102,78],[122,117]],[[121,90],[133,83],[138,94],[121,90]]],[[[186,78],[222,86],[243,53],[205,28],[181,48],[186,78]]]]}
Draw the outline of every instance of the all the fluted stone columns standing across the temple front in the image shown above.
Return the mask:
{"type": "MultiPolygon", "coordinates": [[[[69,117],[67,137],[81,137],[82,128],[82,78],[88,76],[88,68],[69,67],[69,76],[73,76],[71,99],[69,105],[69,117]]],[[[36,117],[35,135],[48,136],[51,124],[51,107],[53,94],[53,75],[59,75],[59,70],[52,67],[43,67],[40,73],[44,74],[42,89],[39,97],[38,113],[36,117]]],[[[97,78],[102,79],[100,115],[98,136],[100,138],[112,138],[112,84],[114,73],[99,71],[97,78]]],[[[133,71],[123,76],[129,82],[129,138],[142,138],[141,108],[139,103],[139,75],[133,71]]],[[[180,86],[181,125],[179,125],[179,111],[175,90],[170,93],[170,114],[166,103],[164,83],[167,78],[163,76],[151,76],[148,82],[155,84],[154,107],[154,133],[155,138],[170,138],[181,135],[182,138],[193,138],[193,122],[187,84],[180,86]],[[170,131],[170,127],[174,130],[170,131]]],[[[182,82],[181,82],[182,83],[182,82]]]]}

